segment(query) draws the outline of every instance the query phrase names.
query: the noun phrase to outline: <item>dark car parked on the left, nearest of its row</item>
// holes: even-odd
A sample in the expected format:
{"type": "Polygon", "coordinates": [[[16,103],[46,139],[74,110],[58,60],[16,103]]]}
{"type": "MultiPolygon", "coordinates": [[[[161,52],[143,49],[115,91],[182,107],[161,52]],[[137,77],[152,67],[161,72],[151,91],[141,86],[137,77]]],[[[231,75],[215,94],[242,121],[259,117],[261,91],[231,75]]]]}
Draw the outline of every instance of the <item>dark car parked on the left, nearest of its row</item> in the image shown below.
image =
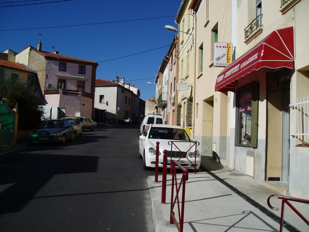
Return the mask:
{"type": "Polygon", "coordinates": [[[60,142],[74,140],[74,127],[66,119],[54,119],[44,121],[38,129],[31,134],[31,143],[60,142]]]}

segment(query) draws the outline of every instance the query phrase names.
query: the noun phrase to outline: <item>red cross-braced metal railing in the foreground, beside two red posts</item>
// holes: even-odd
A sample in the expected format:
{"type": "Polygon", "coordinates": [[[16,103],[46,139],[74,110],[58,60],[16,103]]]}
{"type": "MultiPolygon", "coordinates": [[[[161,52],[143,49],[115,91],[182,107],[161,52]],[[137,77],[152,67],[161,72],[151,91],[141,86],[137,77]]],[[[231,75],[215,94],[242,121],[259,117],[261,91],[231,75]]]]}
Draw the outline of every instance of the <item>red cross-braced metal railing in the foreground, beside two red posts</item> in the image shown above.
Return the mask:
{"type": "Polygon", "coordinates": [[[186,181],[189,178],[188,170],[186,170],[183,166],[181,166],[176,160],[171,160],[171,169],[173,170],[172,176],[172,190],[171,190],[171,210],[170,210],[170,224],[175,224],[179,232],[184,231],[184,197],[185,197],[185,190],[186,190],[186,181]],[[176,177],[176,165],[183,171],[181,180],[179,185],[177,185],[177,177],[176,177]],[[176,195],[174,198],[174,183],[176,186],[176,195]],[[182,195],[181,195],[181,209],[180,209],[180,201],[179,201],[179,192],[182,186],[182,195]],[[178,206],[178,217],[179,222],[175,217],[174,207],[177,201],[178,206]]]}

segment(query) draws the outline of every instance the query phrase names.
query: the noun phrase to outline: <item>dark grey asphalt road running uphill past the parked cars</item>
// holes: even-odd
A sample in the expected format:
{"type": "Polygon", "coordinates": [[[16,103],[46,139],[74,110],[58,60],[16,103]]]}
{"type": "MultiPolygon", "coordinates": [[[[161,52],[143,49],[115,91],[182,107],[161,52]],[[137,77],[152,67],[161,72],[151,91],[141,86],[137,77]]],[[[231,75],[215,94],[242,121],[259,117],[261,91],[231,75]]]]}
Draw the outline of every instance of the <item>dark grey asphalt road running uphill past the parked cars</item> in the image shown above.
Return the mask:
{"type": "Polygon", "coordinates": [[[0,231],[154,231],[139,125],[0,156],[0,231]]]}

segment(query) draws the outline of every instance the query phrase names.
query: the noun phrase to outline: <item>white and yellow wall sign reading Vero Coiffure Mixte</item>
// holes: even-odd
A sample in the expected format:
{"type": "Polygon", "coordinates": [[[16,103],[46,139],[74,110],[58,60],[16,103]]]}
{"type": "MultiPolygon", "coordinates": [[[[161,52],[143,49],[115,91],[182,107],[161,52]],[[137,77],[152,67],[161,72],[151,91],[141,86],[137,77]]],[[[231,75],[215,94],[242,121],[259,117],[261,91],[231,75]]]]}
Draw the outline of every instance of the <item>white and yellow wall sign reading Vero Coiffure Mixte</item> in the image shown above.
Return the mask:
{"type": "Polygon", "coordinates": [[[232,43],[214,43],[214,67],[226,67],[232,62],[232,43]]]}

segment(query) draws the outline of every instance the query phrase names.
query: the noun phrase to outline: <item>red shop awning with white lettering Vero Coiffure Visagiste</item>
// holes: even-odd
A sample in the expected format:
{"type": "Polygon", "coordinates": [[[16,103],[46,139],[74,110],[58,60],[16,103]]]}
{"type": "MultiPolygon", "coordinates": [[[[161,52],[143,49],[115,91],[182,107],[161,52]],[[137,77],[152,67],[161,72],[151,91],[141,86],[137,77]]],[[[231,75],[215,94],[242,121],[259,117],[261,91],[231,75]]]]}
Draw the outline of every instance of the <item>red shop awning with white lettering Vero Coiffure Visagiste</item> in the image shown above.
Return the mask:
{"type": "Polygon", "coordinates": [[[214,90],[235,92],[237,80],[260,68],[294,67],[294,27],[273,31],[218,75],[214,90]]]}

